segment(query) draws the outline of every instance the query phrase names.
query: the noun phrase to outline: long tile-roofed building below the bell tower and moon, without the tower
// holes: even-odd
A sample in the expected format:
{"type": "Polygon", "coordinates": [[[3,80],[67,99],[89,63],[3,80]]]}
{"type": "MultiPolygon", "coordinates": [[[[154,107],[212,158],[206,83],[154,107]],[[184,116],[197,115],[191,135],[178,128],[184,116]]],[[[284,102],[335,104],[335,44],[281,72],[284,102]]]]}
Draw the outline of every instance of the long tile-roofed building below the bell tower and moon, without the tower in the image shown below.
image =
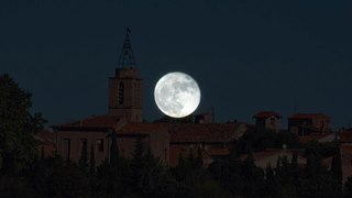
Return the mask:
{"type": "Polygon", "coordinates": [[[130,158],[138,136],[144,148],[151,148],[154,156],[167,166],[176,166],[178,156],[194,155],[198,150],[209,165],[213,158],[229,154],[231,141],[244,134],[245,123],[136,123],[117,121],[116,117],[103,114],[77,122],[56,124],[57,152],[63,157],[78,162],[82,150],[95,151],[97,165],[110,158],[111,133],[116,132],[119,153],[130,158]]]}

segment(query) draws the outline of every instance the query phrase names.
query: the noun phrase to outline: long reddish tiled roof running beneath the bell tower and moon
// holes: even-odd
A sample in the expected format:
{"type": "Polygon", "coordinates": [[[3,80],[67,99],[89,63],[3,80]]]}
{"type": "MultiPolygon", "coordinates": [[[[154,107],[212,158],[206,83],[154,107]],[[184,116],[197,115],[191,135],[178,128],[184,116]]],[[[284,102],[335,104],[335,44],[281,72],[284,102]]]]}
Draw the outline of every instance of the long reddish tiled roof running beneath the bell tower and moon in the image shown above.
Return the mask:
{"type": "Polygon", "coordinates": [[[75,122],[53,125],[57,129],[114,128],[119,133],[169,132],[170,142],[229,142],[239,139],[246,130],[245,123],[122,123],[109,114],[89,117],[75,122]]]}

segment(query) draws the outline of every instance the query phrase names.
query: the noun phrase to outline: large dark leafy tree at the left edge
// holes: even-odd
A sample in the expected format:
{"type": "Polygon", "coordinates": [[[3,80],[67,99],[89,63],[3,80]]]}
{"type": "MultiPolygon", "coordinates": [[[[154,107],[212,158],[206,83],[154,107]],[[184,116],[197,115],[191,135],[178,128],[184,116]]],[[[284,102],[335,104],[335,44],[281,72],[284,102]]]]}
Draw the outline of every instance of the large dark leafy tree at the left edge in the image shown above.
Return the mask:
{"type": "Polygon", "coordinates": [[[31,113],[31,97],[9,75],[0,76],[0,167],[6,173],[23,169],[38,154],[35,136],[45,120],[31,113]]]}

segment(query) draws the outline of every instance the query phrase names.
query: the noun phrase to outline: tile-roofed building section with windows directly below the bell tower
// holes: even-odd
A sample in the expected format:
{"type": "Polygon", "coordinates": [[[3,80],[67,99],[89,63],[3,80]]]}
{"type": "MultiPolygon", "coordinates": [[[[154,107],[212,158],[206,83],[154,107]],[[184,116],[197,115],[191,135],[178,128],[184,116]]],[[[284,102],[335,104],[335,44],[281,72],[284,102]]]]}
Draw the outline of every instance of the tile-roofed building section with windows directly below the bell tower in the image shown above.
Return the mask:
{"type": "Polygon", "coordinates": [[[55,133],[57,152],[63,157],[78,162],[82,150],[95,151],[96,163],[99,165],[110,158],[111,134],[117,134],[120,154],[127,158],[132,156],[135,140],[140,136],[145,148],[165,163],[168,162],[169,135],[158,124],[125,122],[116,116],[102,114],[80,121],[56,124],[55,133]]]}

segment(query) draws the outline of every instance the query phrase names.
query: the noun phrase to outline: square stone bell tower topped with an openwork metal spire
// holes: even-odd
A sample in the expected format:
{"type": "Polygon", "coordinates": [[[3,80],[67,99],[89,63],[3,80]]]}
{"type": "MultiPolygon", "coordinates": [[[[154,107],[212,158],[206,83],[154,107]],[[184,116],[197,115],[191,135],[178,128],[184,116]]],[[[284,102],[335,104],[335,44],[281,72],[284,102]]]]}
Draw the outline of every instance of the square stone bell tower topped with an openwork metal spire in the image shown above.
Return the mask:
{"type": "Polygon", "coordinates": [[[119,65],[114,77],[109,78],[109,114],[128,122],[142,122],[142,79],[127,29],[119,65]]]}

